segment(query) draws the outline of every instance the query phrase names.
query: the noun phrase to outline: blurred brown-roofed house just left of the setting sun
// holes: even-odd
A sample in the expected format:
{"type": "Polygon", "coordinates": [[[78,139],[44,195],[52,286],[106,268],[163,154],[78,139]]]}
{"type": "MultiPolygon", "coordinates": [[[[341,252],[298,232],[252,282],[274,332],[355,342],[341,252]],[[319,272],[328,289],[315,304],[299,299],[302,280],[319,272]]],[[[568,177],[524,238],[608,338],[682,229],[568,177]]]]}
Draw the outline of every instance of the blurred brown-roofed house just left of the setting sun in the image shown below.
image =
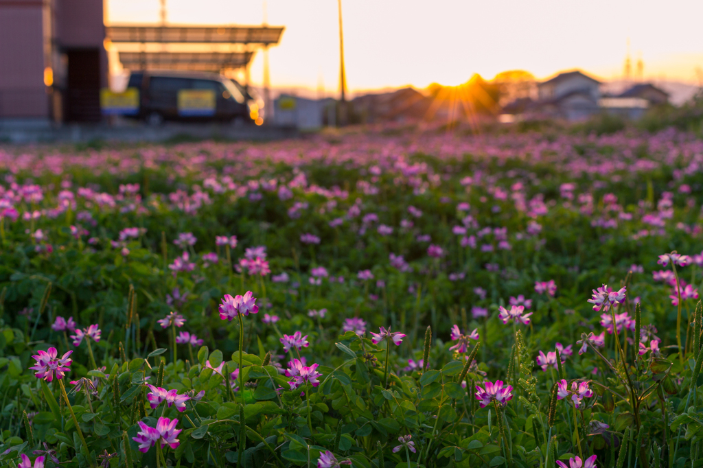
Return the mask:
{"type": "Polygon", "coordinates": [[[430,103],[430,98],[423,93],[407,87],[390,93],[358,96],[352,100],[352,107],[361,123],[371,124],[423,119],[430,103]]]}

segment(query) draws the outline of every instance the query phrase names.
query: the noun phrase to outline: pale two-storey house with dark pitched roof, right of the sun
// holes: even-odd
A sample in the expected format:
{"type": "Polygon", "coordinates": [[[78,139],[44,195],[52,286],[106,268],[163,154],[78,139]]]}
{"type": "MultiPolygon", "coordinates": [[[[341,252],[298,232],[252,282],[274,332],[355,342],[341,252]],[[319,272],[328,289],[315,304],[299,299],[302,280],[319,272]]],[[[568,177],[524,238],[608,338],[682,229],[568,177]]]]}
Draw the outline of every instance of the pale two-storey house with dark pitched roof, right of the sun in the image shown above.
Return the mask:
{"type": "Polygon", "coordinates": [[[579,70],[538,83],[537,94],[538,100],[529,105],[529,110],[551,117],[582,120],[599,111],[600,82],[579,70]]]}

